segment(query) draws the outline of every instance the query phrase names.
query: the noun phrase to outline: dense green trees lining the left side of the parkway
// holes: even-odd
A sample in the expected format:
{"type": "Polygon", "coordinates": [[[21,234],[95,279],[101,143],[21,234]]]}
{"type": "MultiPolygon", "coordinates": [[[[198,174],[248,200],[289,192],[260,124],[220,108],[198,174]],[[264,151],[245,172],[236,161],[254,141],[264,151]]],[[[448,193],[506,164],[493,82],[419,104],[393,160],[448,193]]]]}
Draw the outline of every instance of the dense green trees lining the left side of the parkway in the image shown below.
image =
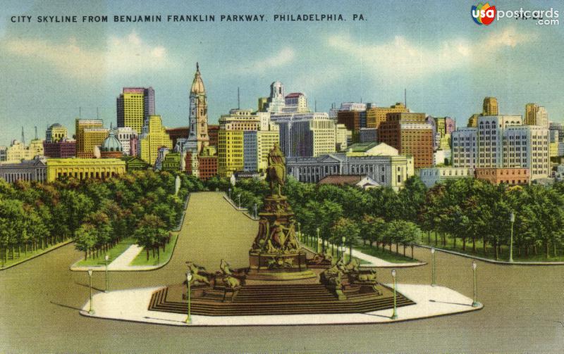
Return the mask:
{"type": "Polygon", "coordinates": [[[85,259],[97,257],[131,237],[147,252],[159,253],[200,180],[168,172],[133,172],[105,181],[61,179],[39,184],[0,180],[0,258],[2,265],[54,244],[74,239],[85,259]]]}

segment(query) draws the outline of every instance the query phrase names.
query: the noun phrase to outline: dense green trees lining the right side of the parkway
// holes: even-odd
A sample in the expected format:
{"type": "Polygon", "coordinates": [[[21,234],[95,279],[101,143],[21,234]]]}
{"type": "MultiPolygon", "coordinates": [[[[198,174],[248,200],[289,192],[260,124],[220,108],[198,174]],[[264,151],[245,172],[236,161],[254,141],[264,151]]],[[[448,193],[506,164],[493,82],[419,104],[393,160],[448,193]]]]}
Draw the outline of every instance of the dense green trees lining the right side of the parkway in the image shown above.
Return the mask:
{"type": "MultiPolygon", "coordinates": [[[[227,190],[228,184],[217,181],[227,190]]],[[[258,179],[241,180],[231,190],[235,202],[260,209],[268,193],[258,179]],[[240,197],[239,197],[240,196],[240,197]]],[[[363,190],[316,185],[291,177],[284,194],[302,232],[341,244],[341,237],[376,247],[431,244],[501,259],[513,234],[516,258],[563,260],[564,183],[509,187],[479,179],[452,179],[427,189],[418,177],[405,188],[363,190]],[[511,214],[514,218],[512,221],[511,214]],[[513,233],[512,233],[513,228],[513,233]]]]}

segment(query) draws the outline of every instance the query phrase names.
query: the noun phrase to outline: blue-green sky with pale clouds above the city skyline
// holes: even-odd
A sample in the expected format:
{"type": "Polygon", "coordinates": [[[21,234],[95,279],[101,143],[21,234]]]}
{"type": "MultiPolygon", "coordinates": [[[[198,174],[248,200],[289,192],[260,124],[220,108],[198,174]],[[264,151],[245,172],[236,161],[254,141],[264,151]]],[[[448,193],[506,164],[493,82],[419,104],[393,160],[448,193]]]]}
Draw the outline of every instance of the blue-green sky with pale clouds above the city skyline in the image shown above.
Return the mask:
{"type": "Polygon", "coordinates": [[[276,80],[307,95],[310,108],[332,103],[404,99],[414,112],[451,116],[466,125],[485,96],[501,114],[525,103],[564,120],[564,3],[492,1],[499,10],[548,10],[559,25],[502,18],[472,20],[472,1],[2,1],[0,8],[0,145],[44,139],[59,122],[116,125],[123,87],[153,87],[167,127],[188,125],[196,62],[207,89],[209,123],[240,107],[257,109],[276,80]],[[168,23],[167,15],[215,15],[215,22],[168,23]],[[264,15],[226,22],[221,15],[264,15]],[[333,14],[344,21],[274,21],[274,15],[333,14]],[[362,14],[364,20],[353,20],[362,14]],[[31,23],[17,16],[31,15],[31,23]],[[78,23],[38,23],[37,16],[77,15],[78,23]],[[107,23],[82,23],[107,15],[107,23]],[[115,23],[114,15],[161,15],[161,23],[115,23]],[[12,22],[16,16],[16,22],[12,22]],[[79,110],[80,107],[80,110],[79,110]]]}

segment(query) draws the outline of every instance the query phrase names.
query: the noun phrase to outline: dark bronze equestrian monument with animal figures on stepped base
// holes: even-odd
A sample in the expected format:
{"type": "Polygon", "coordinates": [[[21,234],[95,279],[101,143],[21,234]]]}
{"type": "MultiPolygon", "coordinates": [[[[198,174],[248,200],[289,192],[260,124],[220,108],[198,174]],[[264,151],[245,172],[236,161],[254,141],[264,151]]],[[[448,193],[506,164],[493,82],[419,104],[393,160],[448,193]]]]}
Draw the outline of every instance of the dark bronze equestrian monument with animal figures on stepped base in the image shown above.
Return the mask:
{"type": "MultiPolygon", "coordinates": [[[[268,155],[270,194],[260,210],[258,232],[249,251],[249,267],[233,269],[221,260],[207,272],[188,261],[190,287],[166,286],[153,293],[149,310],[185,313],[190,298],[195,315],[292,315],[370,312],[393,308],[393,291],[377,282],[375,270],[358,260],[308,251],[295,235],[295,215],[282,190],[286,159],[278,144],[268,155]],[[188,297],[190,289],[190,297],[188,297]]],[[[413,302],[398,293],[396,305],[413,302]]]]}

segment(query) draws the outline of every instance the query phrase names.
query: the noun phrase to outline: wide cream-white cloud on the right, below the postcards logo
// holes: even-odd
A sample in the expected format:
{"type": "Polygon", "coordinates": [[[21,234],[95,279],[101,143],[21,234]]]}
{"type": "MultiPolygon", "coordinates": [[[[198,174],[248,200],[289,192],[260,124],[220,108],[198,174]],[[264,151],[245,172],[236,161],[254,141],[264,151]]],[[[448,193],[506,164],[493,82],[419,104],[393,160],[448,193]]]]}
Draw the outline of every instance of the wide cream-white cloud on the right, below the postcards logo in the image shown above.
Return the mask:
{"type": "Polygon", "coordinates": [[[329,37],[328,44],[333,50],[348,53],[353,61],[367,65],[381,79],[412,80],[480,63],[485,59],[484,54],[491,56],[505,47],[514,48],[533,38],[532,34],[519,33],[509,27],[503,32],[489,32],[485,39],[477,42],[451,39],[423,46],[396,36],[388,42],[367,44],[341,34],[329,37]]]}

